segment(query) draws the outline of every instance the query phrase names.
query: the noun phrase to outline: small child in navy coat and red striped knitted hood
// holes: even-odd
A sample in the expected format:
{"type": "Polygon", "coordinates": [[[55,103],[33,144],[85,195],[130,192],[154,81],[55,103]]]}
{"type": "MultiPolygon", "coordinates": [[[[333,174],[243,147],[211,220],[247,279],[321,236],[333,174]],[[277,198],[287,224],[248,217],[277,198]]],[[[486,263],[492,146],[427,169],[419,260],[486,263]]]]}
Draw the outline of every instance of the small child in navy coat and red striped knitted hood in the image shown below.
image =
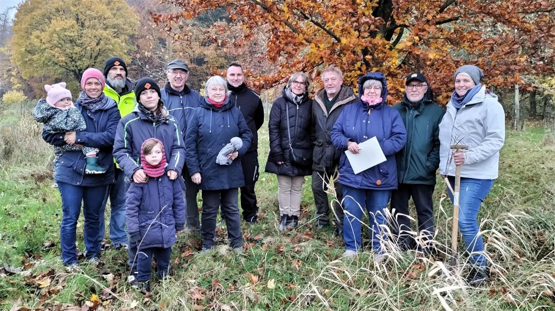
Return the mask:
{"type": "Polygon", "coordinates": [[[171,246],[176,232],[183,230],[185,202],[179,180],[165,174],[166,154],[162,141],[150,138],[141,146],[140,162],[147,182],[132,182],[127,191],[125,215],[131,243],[138,249],[137,277],[132,284],[150,291],[152,257],[157,259],[158,277],[169,273],[171,246]]]}

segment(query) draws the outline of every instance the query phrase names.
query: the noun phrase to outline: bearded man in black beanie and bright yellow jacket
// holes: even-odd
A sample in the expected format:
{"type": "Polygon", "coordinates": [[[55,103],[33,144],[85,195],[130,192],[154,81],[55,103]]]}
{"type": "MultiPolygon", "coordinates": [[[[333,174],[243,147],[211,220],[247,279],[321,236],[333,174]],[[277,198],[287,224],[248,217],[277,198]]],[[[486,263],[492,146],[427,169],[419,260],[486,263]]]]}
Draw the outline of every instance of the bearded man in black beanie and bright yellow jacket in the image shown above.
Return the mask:
{"type": "MultiPolygon", "coordinates": [[[[119,57],[110,57],[104,62],[104,94],[118,104],[122,118],[135,108],[134,83],[127,77],[127,65],[119,57]]],[[[114,161],[115,163],[115,161],[114,161]]],[[[110,240],[113,247],[127,248],[127,231],[125,231],[125,186],[123,171],[115,164],[115,182],[110,187],[110,240]]],[[[100,219],[100,236],[104,238],[104,217],[100,219]]]]}

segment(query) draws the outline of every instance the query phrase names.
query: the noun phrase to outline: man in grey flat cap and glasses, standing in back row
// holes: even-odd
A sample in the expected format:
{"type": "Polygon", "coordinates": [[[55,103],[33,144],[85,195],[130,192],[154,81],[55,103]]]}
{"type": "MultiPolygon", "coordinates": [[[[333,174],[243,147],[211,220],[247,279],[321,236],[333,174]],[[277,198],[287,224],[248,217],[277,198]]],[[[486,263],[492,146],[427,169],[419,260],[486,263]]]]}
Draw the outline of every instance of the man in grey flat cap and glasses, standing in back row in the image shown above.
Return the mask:
{"type": "MultiPolygon", "coordinates": [[[[189,78],[189,66],[183,60],[172,60],[168,64],[166,75],[168,76],[168,83],[160,90],[161,99],[166,109],[168,109],[168,113],[178,121],[180,129],[183,131],[183,137],[185,137],[190,116],[204,99],[197,91],[190,89],[186,84],[189,78]]],[[[198,231],[200,230],[200,222],[196,195],[199,188],[196,183],[191,181],[186,165],[183,167],[183,180],[185,181],[186,202],[185,226],[189,230],[198,231]]]]}

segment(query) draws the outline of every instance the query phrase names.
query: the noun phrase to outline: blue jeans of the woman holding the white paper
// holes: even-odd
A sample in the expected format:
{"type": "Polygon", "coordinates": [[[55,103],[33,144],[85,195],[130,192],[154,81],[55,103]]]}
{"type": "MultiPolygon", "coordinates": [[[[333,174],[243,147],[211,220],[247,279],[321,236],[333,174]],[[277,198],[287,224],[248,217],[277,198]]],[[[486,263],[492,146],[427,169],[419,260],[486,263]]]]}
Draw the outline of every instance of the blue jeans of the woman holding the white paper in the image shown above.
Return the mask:
{"type": "Polygon", "coordinates": [[[381,234],[384,228],[380,228],[380,225],[387,223],[384,210],[387,208],[390,197],[391,190],[368,190],[343,186],[343,207],[345,209],[343,237],[346,249],[356,251],[362,247],[360,227],[362,215],[367,210],[370,219],[372,249],[381,253],[381,241],[385,239],[385,236],[381,234]]]}

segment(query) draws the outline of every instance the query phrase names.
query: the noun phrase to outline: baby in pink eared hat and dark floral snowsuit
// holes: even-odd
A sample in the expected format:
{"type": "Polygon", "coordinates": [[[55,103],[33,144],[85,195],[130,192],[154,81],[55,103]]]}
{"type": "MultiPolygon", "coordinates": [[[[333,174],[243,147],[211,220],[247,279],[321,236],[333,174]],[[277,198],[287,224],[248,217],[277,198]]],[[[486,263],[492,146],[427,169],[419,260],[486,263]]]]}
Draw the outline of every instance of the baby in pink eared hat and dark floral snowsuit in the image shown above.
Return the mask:
{"type": "MultiPolygon", "coordinates": [[[[65,88],[65,82],[44,85],[48,96],[39,99],[37,106],[33,109],[33,116],[37,122],[43,124],[43,129],[49,133],[85,131],[87,125],[81,115],[80,109],[72,103],[71,92],[65,88]]],[[[98,149],[82,145],[54,146],[54,175],[58,170],[59,160],[65,151],[82,151],[87,159],[85,173],[102,174],[106,171],[98,165],[98,149]]],[[[56,184],[54,184],[56,186],[56,184]]]]}

